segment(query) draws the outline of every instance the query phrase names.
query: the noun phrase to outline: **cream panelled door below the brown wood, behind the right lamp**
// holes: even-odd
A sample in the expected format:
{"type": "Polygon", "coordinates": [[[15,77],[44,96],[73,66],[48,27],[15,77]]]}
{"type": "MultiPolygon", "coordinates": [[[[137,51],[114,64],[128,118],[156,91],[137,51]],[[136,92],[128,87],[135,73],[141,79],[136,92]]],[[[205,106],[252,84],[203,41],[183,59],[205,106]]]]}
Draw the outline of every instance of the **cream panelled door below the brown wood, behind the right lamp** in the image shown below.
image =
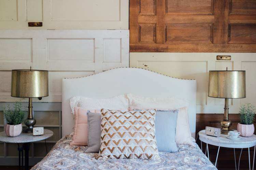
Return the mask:
{"type": "MultiPolygon", "coordinates": [[[[171,77],[197,80],[197,113],[223,113],[224,99],[208,97],[209,70],[245,70],[246,98],[229,99],[229,112],[240,105],[256,105],[256,53],[130,53],[130,67],[140,67],[171,77]],[[231,55],[230,61],[216,60],[231,55]]],[[[168,89],[166,89],[168,90],[168,89]]]]}

